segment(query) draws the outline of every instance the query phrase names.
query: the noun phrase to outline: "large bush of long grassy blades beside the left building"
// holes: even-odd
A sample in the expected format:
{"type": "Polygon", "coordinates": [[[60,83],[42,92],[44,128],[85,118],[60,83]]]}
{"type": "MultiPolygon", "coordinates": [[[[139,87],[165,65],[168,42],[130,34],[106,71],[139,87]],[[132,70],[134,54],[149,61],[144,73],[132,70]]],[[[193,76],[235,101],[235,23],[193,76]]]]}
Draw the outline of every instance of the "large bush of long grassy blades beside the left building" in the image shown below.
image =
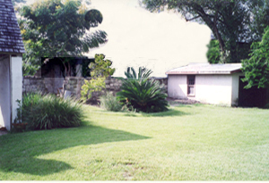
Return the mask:
{"type": "Polygon", "coordinates": [[[30,94],[22,99],[22,122],[27,129],[54,129],[79,126],[82,104],[52,95],[30,94]]]}

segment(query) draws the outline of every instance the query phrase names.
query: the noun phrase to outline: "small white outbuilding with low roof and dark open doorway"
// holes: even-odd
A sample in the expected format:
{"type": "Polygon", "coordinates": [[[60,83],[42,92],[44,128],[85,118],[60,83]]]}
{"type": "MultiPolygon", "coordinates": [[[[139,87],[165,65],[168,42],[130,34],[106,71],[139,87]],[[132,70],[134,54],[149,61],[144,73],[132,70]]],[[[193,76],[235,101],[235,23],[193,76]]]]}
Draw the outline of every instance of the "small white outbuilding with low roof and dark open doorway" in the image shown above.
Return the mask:
{"type": "Polygon", "coordinates": [[[268,91],[245,89],[241,67],[241,63],[192,63],[167,71],[168,96],[228,106],[265,105],[268,91]]]}

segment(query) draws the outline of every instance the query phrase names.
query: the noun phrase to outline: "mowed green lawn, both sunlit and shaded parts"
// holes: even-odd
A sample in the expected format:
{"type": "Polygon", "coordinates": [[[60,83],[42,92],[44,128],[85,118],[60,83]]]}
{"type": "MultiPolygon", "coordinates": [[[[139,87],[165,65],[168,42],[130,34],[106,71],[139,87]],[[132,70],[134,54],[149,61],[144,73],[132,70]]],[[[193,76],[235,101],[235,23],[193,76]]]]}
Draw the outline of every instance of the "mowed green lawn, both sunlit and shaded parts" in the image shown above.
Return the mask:
{"type": "Polygon", "coordinates": [[[86,106],[79,128],[0,137],[1,180],[269,180],[269,111],[86,106]]]}

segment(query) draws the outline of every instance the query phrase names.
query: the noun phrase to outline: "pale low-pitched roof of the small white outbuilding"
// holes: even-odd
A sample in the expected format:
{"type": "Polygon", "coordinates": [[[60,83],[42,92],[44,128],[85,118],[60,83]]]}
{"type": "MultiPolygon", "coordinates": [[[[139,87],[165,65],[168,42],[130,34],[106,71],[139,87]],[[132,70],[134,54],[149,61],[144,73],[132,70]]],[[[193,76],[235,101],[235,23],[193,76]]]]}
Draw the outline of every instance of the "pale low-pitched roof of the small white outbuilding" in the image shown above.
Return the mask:
{"type": "Polygon", "coordinates": [[[239,72],[241,68],[241,63],[193,63],[177,69],[169,70],[166,74],[231,74],[233,72],[239,72]]]}

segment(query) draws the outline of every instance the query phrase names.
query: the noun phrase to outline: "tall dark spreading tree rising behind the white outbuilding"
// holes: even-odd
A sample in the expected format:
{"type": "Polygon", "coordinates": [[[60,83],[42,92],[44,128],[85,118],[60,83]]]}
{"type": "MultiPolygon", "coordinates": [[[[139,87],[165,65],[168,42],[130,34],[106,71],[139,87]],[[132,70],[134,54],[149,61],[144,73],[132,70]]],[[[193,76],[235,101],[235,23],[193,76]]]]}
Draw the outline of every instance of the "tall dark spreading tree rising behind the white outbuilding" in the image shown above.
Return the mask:
{"type": "Polygon", "coordinates": [[[151,12],[173,9],[186,21],[206,24],[219,41],[221,52],[230,54],[226,62],[240,62],[238,43],[249,41],[251,34],[247,0],[142,0],[142,3],[151,12]]]}

